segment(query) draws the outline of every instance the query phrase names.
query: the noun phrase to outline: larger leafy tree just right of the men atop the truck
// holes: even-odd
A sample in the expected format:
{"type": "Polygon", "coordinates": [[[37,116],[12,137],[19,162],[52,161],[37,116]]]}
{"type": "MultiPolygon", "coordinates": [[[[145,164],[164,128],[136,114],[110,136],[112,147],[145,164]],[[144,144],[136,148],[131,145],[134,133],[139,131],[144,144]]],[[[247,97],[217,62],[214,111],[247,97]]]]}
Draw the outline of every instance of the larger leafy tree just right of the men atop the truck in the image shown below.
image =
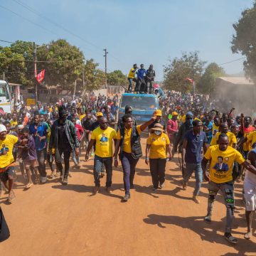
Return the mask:
{"type": "Polygon", "coordinates": [[[181,58],[170,59],[164,66],[164,87],[169,90],[191,92],[193,85],[186,81],[186,78],[193,78],[197,83],[205,64],[205,61],[199,59],[198,51],[184,52],[181,58]]]}

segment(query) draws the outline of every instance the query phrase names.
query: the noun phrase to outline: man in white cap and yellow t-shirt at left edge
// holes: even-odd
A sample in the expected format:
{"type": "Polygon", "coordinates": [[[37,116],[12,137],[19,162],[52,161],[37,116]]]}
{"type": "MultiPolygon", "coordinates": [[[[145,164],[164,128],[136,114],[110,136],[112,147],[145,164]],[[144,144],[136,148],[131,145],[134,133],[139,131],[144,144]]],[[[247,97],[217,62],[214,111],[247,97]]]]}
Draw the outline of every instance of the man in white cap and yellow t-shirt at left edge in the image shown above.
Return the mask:
{"type": "Polygon", "coordinates": [[[14,144],[17,142],[18,137],[7,134],[7,129],[4,124],[0,124],[0,179],[4,183],[4,186],[6,186],[8,189],[8,201],[10,203],[14,199],[12,187],[14,184],[15,161],[12,151],[14,149],[14,144]]]}

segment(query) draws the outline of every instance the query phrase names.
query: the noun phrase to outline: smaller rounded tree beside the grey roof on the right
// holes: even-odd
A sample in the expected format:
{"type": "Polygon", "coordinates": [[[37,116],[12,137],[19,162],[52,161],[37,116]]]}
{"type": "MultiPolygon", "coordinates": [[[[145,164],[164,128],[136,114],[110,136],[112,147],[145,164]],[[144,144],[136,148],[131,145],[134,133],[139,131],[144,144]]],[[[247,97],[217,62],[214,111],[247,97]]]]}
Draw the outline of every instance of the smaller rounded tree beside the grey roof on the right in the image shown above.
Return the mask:
{"type": "Polygon", "coordinates": [[[203,94],[213,93],[215,90],[216,78],[223,75],[225,75],[223,68],[220,68],[216,63],[210,63],[196,85],[198,92],[203,94]]]}

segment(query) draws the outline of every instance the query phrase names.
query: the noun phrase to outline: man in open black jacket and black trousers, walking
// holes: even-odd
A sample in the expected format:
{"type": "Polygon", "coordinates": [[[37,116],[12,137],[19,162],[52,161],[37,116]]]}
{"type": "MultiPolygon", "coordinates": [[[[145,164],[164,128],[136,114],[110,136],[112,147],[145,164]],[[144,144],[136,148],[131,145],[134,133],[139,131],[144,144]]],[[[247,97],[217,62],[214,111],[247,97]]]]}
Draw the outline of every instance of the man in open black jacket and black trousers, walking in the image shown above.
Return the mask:
{"type": "Polygon", "coordinates": [[[63,181],[63,185],[68,185],[70,154],[75,151],[76,156],[79,155],[79,141],[75,125],[67,119],[68,111],[65,107],[61,106],[59,108],[59,116],[59,119],[55,120],[50,128],[49,149],[55,149],[55,163],[60,170],[60,181],[63,181]],[[64,174],[61,164],[62,154],[64,154],[64,174]]]}

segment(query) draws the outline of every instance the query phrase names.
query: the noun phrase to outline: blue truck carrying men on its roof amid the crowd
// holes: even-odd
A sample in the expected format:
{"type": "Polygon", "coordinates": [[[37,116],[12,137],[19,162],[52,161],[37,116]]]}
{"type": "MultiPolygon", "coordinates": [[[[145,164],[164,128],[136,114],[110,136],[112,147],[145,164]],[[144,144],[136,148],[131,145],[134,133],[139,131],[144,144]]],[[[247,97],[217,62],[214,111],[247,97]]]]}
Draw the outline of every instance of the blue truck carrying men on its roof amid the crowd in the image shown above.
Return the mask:
{"type": "Polygon", "coordinates": [[[138,124],[142,124],[149,121],[154,111],[159,109],[159,100],[157,95],[124,93],[119,102],[118,118],[124,115],[126,105],[132,107],[132,116],[138,124]]]}

